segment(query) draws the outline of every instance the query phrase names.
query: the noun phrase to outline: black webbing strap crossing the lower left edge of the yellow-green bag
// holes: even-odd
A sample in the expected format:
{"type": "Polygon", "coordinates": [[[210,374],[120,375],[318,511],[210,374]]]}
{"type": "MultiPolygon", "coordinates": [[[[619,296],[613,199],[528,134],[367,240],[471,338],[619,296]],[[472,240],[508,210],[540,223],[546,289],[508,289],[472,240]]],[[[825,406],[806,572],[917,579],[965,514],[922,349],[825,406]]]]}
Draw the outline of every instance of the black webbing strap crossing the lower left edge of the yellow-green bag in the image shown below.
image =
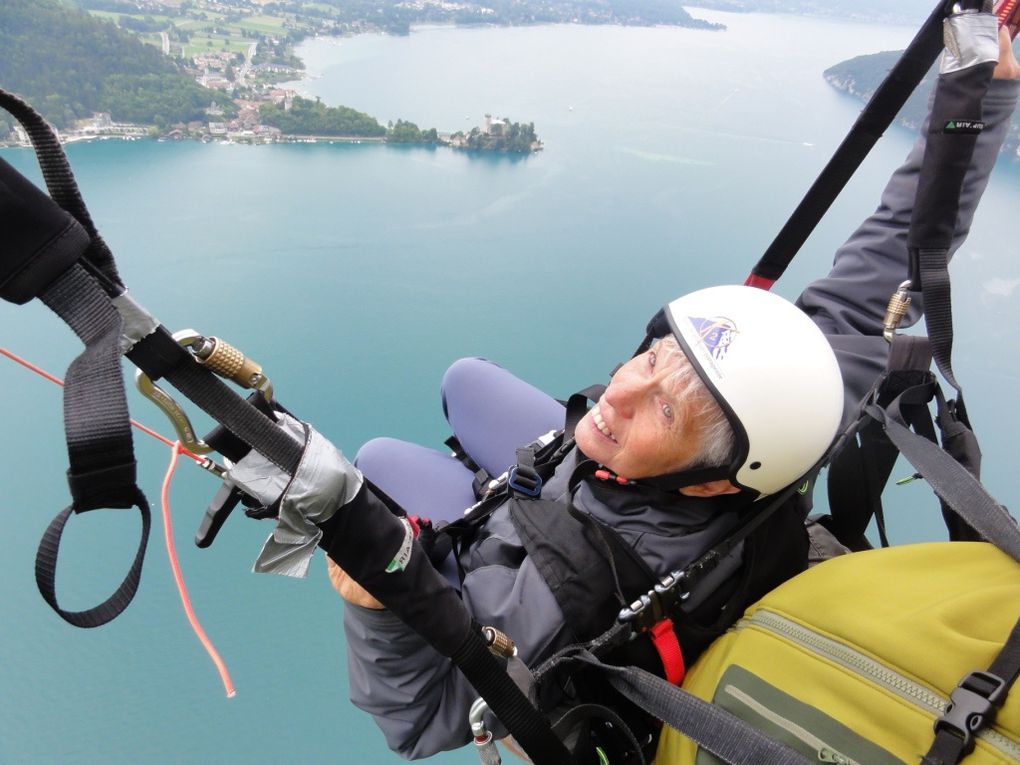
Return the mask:
{"type": "Polygon", "coordinates": [[[605,664],[589,652],[576,657],[606,674],[620,694],[675,728],[727,765],[809,765],[811,760],[779,744],[722,707],[702,701],[651,672],[605,664]]]}

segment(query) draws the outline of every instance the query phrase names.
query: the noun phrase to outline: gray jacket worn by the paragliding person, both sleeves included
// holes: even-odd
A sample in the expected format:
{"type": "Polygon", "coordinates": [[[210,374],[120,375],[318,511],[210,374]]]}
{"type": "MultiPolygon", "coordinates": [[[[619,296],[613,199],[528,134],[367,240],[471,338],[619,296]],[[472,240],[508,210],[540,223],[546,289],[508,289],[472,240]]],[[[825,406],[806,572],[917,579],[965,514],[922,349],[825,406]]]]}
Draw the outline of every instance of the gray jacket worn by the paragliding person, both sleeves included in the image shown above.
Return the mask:
{"type": "MultiPolygon", "coordinates": [[[[1016,105],[1020,83],[994,81],[985,98],[986,128],[968,172],[957,226],[956,247],[966,237],[977,202],[987,184],[999,147],[1016,105]]],[[[885,358],[882,318],[888,297],[907,277],[906,236],[924,132],[904,165],[894,173],[881,204],[835,255],[829,274],[811,285],[799,305],[828,335],[847,386],[847,411],[880,373],[885,358]]],[[[954,250],[956,249],[954,248],[954,250]]],[[[915,303],[910,321],[920,315],[915,303]]],[[[565,489],[565,467],[557,471],[544,496],[565,489]]],[[[704,541],[692,534],[694,520],[706,520],[704,508],[692,505],[691,516],[648,507],[624,516],[583,490],[578,505],[610,523],[630,542],[651,567],[661,573],[690,560],[704,541]]],[[[708,520],[713,533],[733,517],[708,520]]],[[[547,657],[569,640],[562,613],[505,516],[494,517],[484,541],[466,555],[468,573],[463,600],[474,617],[511,634],[528,664],[547,657]],[[516,557],[515,557],[516,556],[516,557]]],[[[734,567],[735,561],[730,564],[734,567]]],[[[344,616],[352,702],[371,714],[391,749],[420,758],[463,746],[470,738],[467,714],[476,693],[453,665],[386,611],[347,605],[344,616]]]]}

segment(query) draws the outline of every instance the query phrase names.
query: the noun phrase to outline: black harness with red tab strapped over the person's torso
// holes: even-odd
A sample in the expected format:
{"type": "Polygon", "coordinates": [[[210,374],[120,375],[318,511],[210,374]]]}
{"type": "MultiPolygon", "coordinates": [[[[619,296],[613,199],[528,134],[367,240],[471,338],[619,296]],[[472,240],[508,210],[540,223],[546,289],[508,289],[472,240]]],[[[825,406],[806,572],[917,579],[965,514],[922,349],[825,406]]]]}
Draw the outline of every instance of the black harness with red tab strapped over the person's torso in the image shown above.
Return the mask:
{"type": "MultiPolygon", "coordinates": [[[[448,441],[475,470],[481,497],[465,517],[426,526],[419,542],[436,564],[452,550],[463,580],[472,545],[483,542],[494,514],[506,513],[571,641],[533,668],[529,695],[574,748],[597,747],[612,753],[613,763],[645,762],[654,754],[660,724],[601,672],[578,662],[578,652],[594,651],[609,664],[639,667],[678,685],[686,667],[747,605],[805,568],[808,508],[805,494],[794,489],[761,503],[747,495],[695,500],[711,502],[714,512],[691,530],[710,539],[695,550],[678,544],[682,557],[666,576],[657,574],[616,527],[577,501],[583,493],[608,507],[623,500],[667,510],[692,502],[675,491],[619,478],[576,452],[569,434],[584,402],[603,390],[597,386],[571,397],[565,429],[517,450],[516,464],[496,479],[470,461],[455,438],[448,441]],[[561,493],[550,484],[562,484],[564,472],[569,476],[561,493]]],[[[627,514],[620,514],[621,523],[627,514]]]]}

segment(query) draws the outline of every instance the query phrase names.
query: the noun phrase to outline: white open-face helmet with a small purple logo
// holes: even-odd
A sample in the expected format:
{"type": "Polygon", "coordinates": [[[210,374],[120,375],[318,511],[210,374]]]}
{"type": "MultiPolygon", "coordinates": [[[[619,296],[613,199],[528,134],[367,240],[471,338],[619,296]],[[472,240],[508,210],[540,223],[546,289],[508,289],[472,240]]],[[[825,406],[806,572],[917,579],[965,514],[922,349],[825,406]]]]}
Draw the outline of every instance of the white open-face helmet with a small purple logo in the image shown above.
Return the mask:
{"type": "Polygon", "coordinates": [[[677,298],[649,323],[671,332],[732,425],[726,477],[772,494],[804,475],[831,445],[843,378],[821,330],[797,306],[753,287],[677,298]]]}

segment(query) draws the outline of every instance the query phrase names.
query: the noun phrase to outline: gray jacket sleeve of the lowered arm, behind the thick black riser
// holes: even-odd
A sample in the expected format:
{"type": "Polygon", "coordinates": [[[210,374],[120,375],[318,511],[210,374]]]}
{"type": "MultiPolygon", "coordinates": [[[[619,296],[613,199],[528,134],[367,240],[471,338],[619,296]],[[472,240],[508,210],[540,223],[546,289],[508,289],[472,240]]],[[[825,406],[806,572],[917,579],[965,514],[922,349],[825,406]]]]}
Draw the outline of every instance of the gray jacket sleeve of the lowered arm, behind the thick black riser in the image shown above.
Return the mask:
{"type": "MultiPolygon", "coordinates": [[[[529,665],[565,643],[562,613],[528,560],[519,569],[472,571],[464,601],[479,623],[511,635],[529,665]]],[[[372,715],[394,752],[419,759],[470,741],[467,716],[478,694],[449,659],[389,611],[345,604],[344,628],[351,701],[372,715]]]]}

